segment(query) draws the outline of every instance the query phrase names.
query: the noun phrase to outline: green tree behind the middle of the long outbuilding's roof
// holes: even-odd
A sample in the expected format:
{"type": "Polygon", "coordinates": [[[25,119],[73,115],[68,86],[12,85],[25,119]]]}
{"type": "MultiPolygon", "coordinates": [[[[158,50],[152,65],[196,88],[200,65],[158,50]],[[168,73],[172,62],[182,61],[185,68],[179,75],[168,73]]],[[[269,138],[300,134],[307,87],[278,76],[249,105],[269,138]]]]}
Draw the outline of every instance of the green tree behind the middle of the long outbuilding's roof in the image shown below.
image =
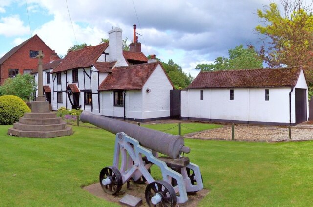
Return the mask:
{"type": "Polygon", "coordinates": [[[228,50],[229,58],[218,57],[214,64],[198,64],[196,69],[201,71],[216,71],[229,69],[255,69],[262,68],[262,59],[258,56],[253,46],[247,49],[243,45],[228,50]]]}

